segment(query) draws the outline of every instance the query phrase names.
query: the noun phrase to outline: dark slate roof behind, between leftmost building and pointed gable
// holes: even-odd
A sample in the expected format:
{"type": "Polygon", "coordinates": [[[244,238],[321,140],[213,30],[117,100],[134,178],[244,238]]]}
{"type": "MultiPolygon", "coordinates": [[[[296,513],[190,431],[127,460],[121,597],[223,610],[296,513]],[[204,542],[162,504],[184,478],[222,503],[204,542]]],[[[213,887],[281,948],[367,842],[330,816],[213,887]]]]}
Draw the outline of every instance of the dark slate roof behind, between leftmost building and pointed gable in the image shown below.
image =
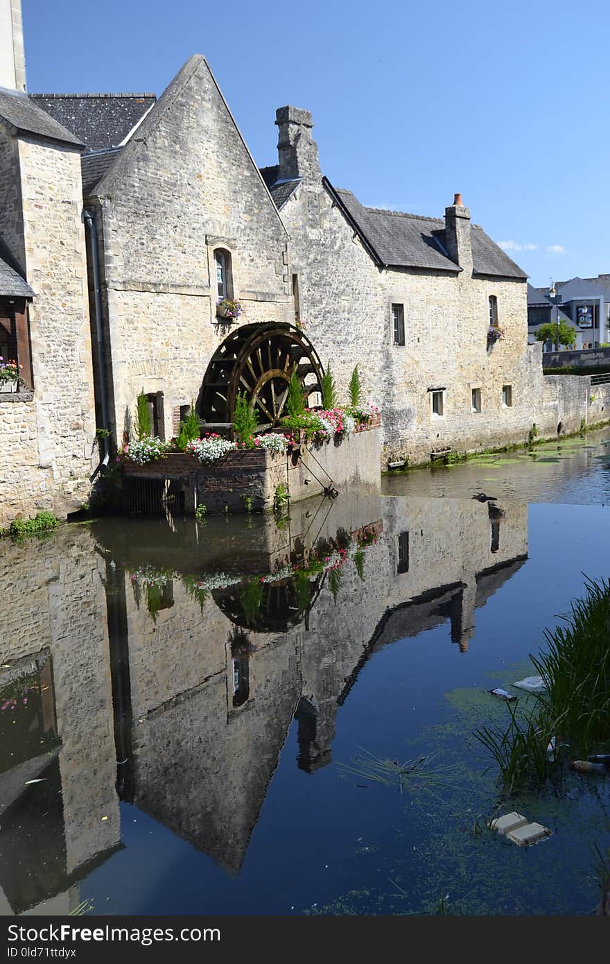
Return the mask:
{"type": "Polygon", "coordinates": [[[156,102],[156,94],[29,94],[73,130],[88,150],[117,147],[156,102]]]}

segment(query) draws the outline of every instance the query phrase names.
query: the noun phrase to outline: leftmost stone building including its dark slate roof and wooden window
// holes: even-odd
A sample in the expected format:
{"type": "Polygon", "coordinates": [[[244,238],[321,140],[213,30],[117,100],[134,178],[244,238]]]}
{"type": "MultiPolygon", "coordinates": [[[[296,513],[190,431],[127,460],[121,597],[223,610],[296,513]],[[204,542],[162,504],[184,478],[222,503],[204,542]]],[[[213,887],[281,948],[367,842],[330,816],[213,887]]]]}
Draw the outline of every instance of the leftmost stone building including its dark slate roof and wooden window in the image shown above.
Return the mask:
{"type": "Polygon", "coordinates": [[[65,517],[90,491],[81,149],[25,94],[0,90],[0,356],[20,376],[0,373],[0,527],[40,509],[65,517]]]}

